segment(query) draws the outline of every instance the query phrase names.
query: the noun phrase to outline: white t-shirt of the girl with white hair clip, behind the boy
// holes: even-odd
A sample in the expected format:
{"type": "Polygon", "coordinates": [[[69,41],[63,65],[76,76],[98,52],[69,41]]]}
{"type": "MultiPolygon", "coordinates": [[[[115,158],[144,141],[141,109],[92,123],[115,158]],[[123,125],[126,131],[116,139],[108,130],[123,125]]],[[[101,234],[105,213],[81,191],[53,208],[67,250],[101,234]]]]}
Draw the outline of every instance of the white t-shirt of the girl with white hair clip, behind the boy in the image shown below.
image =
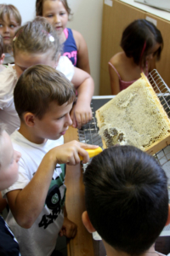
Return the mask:
{"type": "MultiPolygon", "coordinates": [[[[65,77],[71,81],[74,75],[74,66],[66,56],[59,58],[56,69],[64,73],[65,77]]],[[[7,125],[8,134],[20,127],[20,119],[14,108],[13,96],[17,80],[16,71],[11,65],[0,73],[0,123],[7,125]]]]}

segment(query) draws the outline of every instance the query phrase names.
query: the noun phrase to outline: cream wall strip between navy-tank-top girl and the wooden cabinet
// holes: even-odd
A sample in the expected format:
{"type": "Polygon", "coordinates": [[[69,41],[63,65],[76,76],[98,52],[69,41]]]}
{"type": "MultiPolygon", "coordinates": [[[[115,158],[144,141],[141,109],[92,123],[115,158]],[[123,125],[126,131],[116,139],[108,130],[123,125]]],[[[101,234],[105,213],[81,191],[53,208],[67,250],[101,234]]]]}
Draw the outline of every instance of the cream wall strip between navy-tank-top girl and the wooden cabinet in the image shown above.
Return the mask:
{"type": "Polygon", "coordinates": [[[69,26],[82,33],[88,44],[94,95],[99,95],[99,66],[103,0],[67,0],[73,15],[69,26]]]}

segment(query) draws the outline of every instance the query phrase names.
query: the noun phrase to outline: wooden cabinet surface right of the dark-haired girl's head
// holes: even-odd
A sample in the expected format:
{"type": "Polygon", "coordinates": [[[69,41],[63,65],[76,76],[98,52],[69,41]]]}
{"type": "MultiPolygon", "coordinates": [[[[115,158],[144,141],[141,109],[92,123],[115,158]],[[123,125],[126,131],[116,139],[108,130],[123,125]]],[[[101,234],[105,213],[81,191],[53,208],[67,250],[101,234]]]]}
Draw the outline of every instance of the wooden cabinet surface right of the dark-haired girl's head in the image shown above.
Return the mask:
{"type": "Polygon", "coordinates": [[[161,60],[156,62],[156,69],[167,86],[170,87],[170,22],[162,20],[155,15],[150,15],[149,13],[146,13],[145,17],[146,16],[156,20],[156,27],[161,31],[164,46],[161,52],[161,60]]]}

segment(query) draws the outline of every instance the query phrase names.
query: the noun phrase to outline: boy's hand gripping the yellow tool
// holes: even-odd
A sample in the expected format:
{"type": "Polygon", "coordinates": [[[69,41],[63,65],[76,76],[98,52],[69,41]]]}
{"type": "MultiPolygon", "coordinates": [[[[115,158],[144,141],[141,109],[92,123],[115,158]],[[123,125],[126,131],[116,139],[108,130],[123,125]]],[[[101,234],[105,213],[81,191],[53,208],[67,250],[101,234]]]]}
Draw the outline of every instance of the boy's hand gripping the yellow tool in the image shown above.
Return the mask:
{"type": "Polygon", "coordinates": [[[88,152],[84,150],[84,148],[95,149],[98,148],[98,146],[72,141],[70,143],[65,143],[59,147],[52,148],[48,151],[48,156],[50,158],[51,156],[53,156],[54,164],[66,163],[73,166],[77,165],[80,162],[79,155],[81,155],[83,163],[87,163],[89,160],[89,155],[88,152]]]}

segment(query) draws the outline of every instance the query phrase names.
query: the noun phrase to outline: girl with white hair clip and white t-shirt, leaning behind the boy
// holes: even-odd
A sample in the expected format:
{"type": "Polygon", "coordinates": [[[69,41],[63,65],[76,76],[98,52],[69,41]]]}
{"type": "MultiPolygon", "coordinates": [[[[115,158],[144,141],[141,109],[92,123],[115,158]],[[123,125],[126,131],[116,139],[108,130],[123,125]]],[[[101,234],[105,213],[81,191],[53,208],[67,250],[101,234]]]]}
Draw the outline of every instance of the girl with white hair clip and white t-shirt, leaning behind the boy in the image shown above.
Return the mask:
{"type": "Polygon", "coordinates": [[[14,108],[14,86],[27,67],[46,64],[65,74],[77,89],[77,101],[71,110],[73,126],[81,126],[92,119],[90,108],[94,94],[94,80],[78,67],[74,67],[66,56],[60,56],[60,44],[57,32],[48,20],[37,17],[21,26],[13,39],[14,66],[0,73],[0,120],[8,124],[11,134],[20,126],[18,114],[14,108]],[[5,95],[5,98],[4,98],[5,95]]]}

